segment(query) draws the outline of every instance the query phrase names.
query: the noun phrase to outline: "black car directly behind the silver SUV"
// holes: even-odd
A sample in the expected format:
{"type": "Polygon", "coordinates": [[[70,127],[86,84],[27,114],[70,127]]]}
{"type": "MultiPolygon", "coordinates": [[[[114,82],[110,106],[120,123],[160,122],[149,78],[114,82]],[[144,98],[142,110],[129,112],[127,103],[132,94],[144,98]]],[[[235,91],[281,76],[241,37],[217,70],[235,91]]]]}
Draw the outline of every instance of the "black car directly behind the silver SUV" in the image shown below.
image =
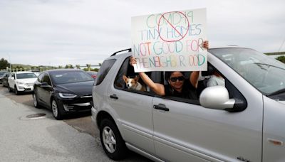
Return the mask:
{"type": "Polygon", "coordinates": [[[93,78],[83,70],[41,72],[33,85],[33,104],[51,109],[56,119],[72,112],[90,112],[93,83],[93,78]]]}

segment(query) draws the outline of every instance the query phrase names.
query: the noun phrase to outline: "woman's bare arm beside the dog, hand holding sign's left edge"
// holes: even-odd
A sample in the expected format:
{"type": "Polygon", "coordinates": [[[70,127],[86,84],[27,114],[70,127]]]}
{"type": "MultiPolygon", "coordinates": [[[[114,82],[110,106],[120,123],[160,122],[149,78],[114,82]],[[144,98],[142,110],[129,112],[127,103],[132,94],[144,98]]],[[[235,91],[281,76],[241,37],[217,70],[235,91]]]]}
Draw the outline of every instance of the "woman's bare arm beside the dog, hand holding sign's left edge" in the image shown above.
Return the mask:
{"type": "MultiPolygon", "coordinates": [[[[134,65],[136,64],[137,61],[135,60],[135,58],[133,58],[133,56],[130,57],[130,65],[134,65]]],[[[148,87],[150,87],[150,89],[155,92],[157,95],[161,95],[164,96],[165,95],[165,86],[160,84],[160,83],[155,83],[153,82],[150,77],[148,77],[145,72],[140,72],[139,73],[140,78],[142,78],[142,81],[145,82],[145,85],[147,85],[148,87]]]]}

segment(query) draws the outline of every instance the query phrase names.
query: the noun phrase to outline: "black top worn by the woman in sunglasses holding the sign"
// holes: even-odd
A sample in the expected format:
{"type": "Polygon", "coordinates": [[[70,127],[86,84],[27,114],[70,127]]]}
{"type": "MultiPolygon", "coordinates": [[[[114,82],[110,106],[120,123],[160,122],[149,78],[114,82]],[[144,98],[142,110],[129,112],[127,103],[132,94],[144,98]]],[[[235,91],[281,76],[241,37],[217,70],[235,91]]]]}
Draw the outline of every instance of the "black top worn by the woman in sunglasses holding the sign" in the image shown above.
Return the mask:
{"type": "Polygon", "coordinates": [[[170,85],[165,85],[165,96],[181,97],[185,99],[198,99],[196,88],[190,83],[190,80],[185,80],[182,87],[182,92],[177,92],[170,85]]]}

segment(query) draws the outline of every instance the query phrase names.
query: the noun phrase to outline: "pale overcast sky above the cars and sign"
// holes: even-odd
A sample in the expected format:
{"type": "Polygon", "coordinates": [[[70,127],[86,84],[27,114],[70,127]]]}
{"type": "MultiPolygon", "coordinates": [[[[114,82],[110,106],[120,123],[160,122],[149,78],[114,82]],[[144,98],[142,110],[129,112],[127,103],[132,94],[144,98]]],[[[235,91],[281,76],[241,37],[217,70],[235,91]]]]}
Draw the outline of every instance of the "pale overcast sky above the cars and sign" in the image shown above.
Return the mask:
{"type": "Polygon", "coordinates": [[[209,47],[285,51],[285,1],[0,0],[0,58],[12,64],[98,65],[131,48],[133,16],[207,9],[209,47]]]}

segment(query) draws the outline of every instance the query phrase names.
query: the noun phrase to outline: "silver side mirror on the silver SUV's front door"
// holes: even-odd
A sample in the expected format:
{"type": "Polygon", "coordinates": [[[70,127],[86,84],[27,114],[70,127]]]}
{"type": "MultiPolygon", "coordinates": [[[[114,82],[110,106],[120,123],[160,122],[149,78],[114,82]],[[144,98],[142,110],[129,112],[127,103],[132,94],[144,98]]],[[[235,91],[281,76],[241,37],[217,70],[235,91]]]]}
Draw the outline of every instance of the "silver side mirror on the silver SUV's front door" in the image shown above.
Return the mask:
{"type": "Polygon", "coordinates": [[[229,92],[223,86],[205,88],[199,98],[202,107],[210,109],[232,109],[235,99],[229,99],[229,92]]]}

